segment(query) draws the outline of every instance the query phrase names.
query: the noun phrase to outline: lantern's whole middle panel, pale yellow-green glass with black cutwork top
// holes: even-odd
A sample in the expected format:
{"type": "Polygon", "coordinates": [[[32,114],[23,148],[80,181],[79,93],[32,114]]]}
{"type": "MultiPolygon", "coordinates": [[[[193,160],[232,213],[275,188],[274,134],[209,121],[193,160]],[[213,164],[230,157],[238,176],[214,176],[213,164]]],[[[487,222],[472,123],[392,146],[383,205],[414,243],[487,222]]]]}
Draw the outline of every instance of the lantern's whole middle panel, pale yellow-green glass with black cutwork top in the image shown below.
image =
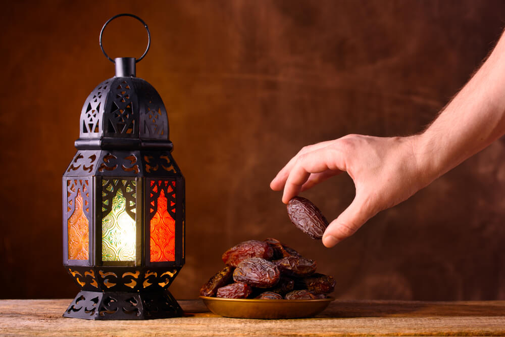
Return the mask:
{"type": "Polygon", "coordinates": [[[102,261],[135,261],[136,182],[102,179],[102,261]]]}

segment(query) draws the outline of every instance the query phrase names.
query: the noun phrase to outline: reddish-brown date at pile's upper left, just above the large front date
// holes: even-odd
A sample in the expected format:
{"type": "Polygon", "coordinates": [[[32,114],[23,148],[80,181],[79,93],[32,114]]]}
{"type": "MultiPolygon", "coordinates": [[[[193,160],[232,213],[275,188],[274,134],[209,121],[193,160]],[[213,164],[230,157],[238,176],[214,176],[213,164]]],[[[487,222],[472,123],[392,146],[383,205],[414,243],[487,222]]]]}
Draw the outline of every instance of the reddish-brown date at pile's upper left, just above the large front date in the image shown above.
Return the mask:
{"type": "Polygon", "coordinates": [[[245,259],[257,257],[270,260],[274,255],[274,250],[264,241],[248,240],[233,246],[224,252],[222,259],[227,266],[238,266],[245,259]]]}

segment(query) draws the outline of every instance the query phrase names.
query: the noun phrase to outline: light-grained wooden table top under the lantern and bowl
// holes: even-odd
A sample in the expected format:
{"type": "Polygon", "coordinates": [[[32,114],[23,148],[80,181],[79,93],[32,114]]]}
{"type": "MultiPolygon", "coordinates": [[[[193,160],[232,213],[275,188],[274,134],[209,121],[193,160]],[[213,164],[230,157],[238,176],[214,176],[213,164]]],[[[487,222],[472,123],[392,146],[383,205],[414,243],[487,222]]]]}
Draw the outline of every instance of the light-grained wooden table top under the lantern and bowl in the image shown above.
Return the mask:
{"type": "Polygon", "coordinates": [[[0,300],[0,335],[505,335],[505,301],[335,301],[313,318],[225,318],[200,300],[184,317],[144,321],[63,318],[68,300],[0,300]]]}

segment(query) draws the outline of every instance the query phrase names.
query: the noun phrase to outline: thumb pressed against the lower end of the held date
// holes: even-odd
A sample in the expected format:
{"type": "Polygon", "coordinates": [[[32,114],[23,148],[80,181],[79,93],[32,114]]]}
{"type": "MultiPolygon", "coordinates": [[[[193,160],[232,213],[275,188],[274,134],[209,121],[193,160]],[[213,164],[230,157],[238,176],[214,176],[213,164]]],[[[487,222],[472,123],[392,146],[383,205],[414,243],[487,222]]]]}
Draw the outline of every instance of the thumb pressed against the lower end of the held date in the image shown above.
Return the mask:
{"type": "Polygon", "coordinates": [[[354,234],[375,213],[366,200],[356,196],[352,203],[326,228],[323,234],[323,245],[331,248],[354,234]]]}

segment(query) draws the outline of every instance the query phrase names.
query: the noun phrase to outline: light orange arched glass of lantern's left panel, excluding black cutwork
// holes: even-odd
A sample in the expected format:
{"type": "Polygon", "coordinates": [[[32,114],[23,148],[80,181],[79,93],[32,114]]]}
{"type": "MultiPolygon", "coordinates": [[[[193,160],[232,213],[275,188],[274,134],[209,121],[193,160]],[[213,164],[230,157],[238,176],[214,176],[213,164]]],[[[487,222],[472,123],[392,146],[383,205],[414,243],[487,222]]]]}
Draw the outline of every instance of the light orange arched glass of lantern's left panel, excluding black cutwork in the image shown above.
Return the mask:
{"type": "Polygon", "coordinates": [[[89,258],[89,222],[82,207],[81,190],[77,190],[74,213],[68,219],[68,258],[87,260],[89,258]]]}

